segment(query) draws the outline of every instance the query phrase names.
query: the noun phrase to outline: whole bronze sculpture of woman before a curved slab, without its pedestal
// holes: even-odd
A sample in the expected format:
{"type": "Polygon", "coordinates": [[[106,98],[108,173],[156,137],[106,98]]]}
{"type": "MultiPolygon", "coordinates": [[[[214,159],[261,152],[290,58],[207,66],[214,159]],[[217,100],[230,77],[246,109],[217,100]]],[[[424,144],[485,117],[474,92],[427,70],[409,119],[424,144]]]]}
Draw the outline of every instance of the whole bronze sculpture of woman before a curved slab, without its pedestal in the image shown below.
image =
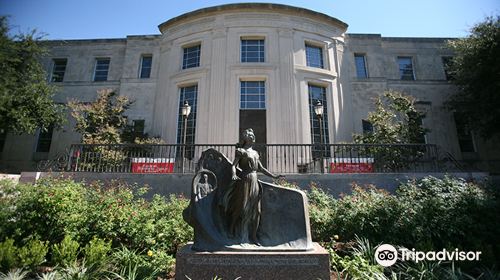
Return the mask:
{"type": "Polygon", "coordinates": [[[193,178],[191,202],[183,213],[194,228],[192,249],[312,249],[305,194],[259,181],[257,172],[272,178],[281,176],[262,165],[252,148],[254,143],[253,130],[245,130],[232,163],[214,149],[202,153],[193,178]]]}

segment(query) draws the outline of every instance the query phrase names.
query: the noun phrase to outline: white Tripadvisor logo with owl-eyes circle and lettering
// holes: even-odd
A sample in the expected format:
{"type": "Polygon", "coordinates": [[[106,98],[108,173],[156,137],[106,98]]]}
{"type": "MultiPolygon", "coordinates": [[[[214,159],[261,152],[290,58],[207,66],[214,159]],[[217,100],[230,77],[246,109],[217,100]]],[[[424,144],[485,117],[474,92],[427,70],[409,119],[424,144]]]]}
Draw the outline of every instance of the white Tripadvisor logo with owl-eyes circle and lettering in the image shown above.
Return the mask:
{"type": "Polygon", "coordinates": [[[449,251],[416,251],[415,249],[400,248],[399,252],[390,244],[382,244],[375,250],[375,261],[381,266],[391,266],[400,261],[479,261],[480,251],[459,251],[458,249],[449,251]]]}

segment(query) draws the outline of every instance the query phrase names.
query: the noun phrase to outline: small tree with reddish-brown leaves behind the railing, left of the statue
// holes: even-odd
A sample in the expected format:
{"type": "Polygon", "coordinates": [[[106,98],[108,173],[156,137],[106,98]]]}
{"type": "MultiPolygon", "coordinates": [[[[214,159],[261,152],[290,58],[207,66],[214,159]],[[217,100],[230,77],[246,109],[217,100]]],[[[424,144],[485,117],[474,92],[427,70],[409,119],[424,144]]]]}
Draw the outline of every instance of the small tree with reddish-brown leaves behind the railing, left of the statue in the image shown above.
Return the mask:
{"type": "Polygon", "coordinates": [[[126,96],[119,96],[111,89],[97,92],[97,99],[91,103],[71,101],[71,115],[76,120],[75,130],[82,135],[79,170],[113,171],[126,170],[130,166],[130,155],[153,157],[151,146],[117,146],[116,144],[164,144],[159,138],[147,138],[144,133],[135,133],[127,122],[125,111],[132,102],[126,96]]]}

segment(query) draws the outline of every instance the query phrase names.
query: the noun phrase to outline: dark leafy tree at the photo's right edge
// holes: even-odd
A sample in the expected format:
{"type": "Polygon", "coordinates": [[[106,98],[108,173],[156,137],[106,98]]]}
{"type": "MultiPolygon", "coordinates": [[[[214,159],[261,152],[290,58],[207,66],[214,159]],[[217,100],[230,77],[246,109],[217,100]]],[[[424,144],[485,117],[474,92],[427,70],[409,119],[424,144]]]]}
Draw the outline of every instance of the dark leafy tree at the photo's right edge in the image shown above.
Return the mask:
{"type": "Polygon", "coordinates": [[[449,108],[485,139],[500,136],[500,16],[486,18],[448,47],[455,52],[449,71],[458,87],[449,108]]]}

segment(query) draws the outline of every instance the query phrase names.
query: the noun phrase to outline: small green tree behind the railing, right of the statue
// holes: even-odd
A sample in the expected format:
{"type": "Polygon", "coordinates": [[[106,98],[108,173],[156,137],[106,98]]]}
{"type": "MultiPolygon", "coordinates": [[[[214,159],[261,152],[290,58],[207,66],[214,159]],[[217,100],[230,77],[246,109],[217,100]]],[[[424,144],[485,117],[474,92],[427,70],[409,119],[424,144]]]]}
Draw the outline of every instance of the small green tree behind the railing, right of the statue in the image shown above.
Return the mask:
{"type": "Polygon", "coordinates": [[[415,98],[389,90],[375,100],[376,109],[368,114],[371,132],[353,135],[363,144],[422,143],[427,129],[422,126],[424,113],[415,108],[415,98]]]}

